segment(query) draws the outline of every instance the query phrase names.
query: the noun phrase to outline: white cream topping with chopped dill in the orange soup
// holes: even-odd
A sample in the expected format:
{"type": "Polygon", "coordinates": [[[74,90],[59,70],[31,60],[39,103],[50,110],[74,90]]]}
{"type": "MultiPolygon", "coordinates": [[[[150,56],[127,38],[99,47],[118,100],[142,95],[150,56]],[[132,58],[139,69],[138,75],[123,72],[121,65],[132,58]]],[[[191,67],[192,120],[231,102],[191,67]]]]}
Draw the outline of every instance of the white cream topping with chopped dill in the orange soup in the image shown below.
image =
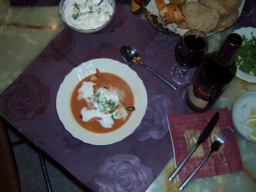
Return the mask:
{"type": "Polygon", "coordinates": [[[83,121],[88,122],[95,118],[102,127],[110,128],[114,124],[114,119],[124,118],[125,120],[128,113],[120,102],[124,94],[122,90],[99,88],[93,93],[93,86],[96,84],[91,81],[84,81],[78,90],[78,93],[81,94],[77,99],[86,101],[86,107],[81,109],[83,121]]]}

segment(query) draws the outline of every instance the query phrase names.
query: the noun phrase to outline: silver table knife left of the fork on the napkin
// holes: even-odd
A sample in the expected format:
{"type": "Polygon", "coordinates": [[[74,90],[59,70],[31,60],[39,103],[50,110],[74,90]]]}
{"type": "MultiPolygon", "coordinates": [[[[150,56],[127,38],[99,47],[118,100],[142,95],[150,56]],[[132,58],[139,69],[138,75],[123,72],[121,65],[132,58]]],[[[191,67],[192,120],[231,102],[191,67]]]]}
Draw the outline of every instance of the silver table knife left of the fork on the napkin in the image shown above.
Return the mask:
{"type": "Polygon", "coordinates": [[[170,175],[168,178],[170,181],[174,179],[174,177],[180,172],[181,168],[186,164],[188,159],[193,155],[196,148],[198,148],[204,141],[207,140],[207,138],[210,136],[212,130],[214,129],[214,126],[217,124],[218,120],[220,118],[220,113],[217,111],[209,121],[209,123],[205,126],[204,131],[200,134],[198,137],[198,140],[196,142],[196,145],[191,149],[189,154],[182,160],[182,162],[179,164],[179,166],[175,169],[175,171],[170,175]]]}

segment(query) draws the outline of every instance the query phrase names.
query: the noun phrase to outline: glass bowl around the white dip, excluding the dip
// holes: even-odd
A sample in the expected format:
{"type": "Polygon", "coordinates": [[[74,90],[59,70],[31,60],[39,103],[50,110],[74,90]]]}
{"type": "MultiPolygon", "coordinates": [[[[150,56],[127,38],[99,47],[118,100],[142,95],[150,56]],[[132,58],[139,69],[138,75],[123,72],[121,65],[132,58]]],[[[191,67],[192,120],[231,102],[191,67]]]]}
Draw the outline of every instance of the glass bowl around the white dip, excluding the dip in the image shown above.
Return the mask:
{"type": "MultiPolygon", "coordinates": [[[[68,22],[68,20],[65,18],[65,9],[67,8],[67,4],[65,4],[66,1],[72,1],[72,0],[61,0],[60,1],[60,5],[59,5],[59,12],[60,12],[60,15],[61,15],[61,19],[63,20],[63,22],[65,22],[65,24],[73,29],[74,31],[77,31],[77,32],[80,32],[80,33],[94,33],[94,32],[97,32],[97,31],[100,31],[101,29],[105,28],[106,26],[108,26],[109,22],[113,19],[113,16],[115,14],[115,0],[105,0],[101,6],[104,4],[104,3],[108,3],[111,5],[111,7],[113,8],[113,14],[111,15],[111,17],[109,17],[109,20],[107,22],[105,22],[104,24],[102,24],[102,26],[99,26],[97,28],[88,28],[88,29],[81,29],[79,28],[78,25],[76,24],[70,24],[70,22],[68,22]]],[[[77,1],[72,1],[72,2],[77,2],[77,1]]],[[[84,0],[84,2],[86,2],[86,0],[84,0]]],[[[73,4],[72,4],[73,5],[73,4]]],[[[88,14],[88,13],[87,13],[88,14]]],[[[83,17],[82,17],[83,19],[83,17]]],[[[92,18],[91,18],[92,19],[92,18]]]]}

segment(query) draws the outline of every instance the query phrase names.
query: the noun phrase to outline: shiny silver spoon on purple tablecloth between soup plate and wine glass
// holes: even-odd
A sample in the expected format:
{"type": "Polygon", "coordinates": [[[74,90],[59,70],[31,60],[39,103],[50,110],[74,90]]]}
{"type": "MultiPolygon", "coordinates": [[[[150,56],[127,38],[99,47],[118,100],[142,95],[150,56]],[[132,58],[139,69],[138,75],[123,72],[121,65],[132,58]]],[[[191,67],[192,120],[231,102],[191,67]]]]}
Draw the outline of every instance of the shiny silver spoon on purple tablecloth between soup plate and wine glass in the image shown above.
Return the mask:
{"type": "Polygon", "coordinates": [[[177,86],[175,86],[174,84],[170,83],[170,81],[168,81],[163,76],[161,76],[157,72],[155,72],[152,68],[148,67],[145,63],[143,63],[140,60],[140,54],[135,49],[133,49],[132,47],[129,47],[128,45],[124,45],[124,46],[121,47],[120,53],[122,55],[122,58],[124,58],[124,60],[127,63],[130,63],[130,64],[138,64],[138,63],[140,63],[141,65],[146,67],[148,70],[150,70],[150,72],[152,72],[157,77],[162,79],[165,83],[169,84],[174,90],[177,90],[177,86]]]}

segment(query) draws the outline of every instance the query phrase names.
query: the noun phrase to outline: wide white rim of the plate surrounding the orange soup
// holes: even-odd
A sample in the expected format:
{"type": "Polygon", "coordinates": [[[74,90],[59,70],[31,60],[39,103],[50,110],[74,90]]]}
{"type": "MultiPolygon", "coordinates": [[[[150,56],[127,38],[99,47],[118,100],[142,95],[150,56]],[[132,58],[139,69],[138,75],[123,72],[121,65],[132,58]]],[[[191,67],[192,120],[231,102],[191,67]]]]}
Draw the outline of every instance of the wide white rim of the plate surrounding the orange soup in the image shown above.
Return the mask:
{"type": "Polygon", "coordinates": [[[82,63],[65,77],[57,93],[56,108],[65,129],[74,138],[92,145],[109,145],[123,140],[140,125],[147,108],[147,92],[140,77],[127,65],[110,59],[95,59],[82,63]],[[95,68],[99,68],[100,72],[109,72],[122,77],[129,84],[134,95],[135,111],[132,112],[129,120],[122,127],[113,132],[95,133],[87,131],[76,122],[70,109],[70,98],[77,83],[84,77],[95,74],[95,68]]]}

